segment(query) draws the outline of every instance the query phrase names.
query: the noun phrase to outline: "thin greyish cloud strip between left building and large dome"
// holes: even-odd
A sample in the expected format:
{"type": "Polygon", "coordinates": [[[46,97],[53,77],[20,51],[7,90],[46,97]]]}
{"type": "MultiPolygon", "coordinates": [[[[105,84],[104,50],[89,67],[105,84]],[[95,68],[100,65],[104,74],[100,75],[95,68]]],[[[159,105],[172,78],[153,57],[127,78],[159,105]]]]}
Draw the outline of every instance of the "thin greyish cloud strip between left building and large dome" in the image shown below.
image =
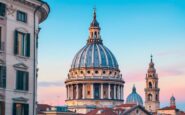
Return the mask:
{"type": "Polygon", "coordinates": [[[62,87],[64,86],[64,82],[63,81],[56,81],[56,82],[39,82],[38,83],[39,87],[62,87]]]}

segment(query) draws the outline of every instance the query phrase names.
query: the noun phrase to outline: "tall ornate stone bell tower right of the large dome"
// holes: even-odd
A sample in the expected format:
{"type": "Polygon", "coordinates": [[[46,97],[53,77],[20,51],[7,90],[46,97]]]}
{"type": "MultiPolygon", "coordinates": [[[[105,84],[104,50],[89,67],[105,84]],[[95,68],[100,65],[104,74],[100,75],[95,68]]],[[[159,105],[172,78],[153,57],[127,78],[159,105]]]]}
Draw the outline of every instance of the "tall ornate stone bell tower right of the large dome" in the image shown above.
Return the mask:
{"type": "Polygon", "coordinates": [[[149,63],[148,72],[146,74],[146,88],[145,88],[145,108],[150,112],[156,112],[160,108],[158,75],[153,63],[153,56],[149,63]]]}

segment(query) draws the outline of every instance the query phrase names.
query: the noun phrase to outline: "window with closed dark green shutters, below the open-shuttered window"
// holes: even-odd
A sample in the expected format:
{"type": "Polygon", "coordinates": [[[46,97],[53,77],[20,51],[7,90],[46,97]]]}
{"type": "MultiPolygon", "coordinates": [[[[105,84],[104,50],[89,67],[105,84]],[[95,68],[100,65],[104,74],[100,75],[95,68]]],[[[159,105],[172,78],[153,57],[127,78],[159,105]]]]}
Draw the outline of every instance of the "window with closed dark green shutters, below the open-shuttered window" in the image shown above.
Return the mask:
{"type": "Polygon", "coordinates": [[[16,89],[28,91],[29,86],[29,73],[25,71],[17,70],[16,89]]]}

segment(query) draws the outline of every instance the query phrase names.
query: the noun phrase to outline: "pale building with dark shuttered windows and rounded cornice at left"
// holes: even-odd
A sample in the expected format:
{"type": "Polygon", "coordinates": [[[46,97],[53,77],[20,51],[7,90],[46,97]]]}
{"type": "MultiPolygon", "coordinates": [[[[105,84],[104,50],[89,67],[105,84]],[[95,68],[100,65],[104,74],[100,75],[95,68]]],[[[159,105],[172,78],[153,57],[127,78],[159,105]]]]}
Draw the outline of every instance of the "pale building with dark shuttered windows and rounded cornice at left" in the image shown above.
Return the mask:
{"type": "Polygon", "coordinates": [[[0,115],[36,115],[42,0],[0,0],[0,115]]]}

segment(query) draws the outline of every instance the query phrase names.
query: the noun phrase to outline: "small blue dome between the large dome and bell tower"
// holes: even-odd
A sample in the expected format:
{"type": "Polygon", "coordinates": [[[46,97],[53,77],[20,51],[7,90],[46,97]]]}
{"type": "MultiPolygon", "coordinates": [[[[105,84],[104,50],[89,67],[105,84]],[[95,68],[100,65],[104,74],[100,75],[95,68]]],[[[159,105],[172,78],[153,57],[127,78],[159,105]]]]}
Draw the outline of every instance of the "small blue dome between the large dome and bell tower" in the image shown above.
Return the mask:
{"type": "Polygon", "coordinates": [[[141,96],[136,92],[136,87],[133,86],[132,93],[126,99],[127,104],[143,105],[141,96]]]}

